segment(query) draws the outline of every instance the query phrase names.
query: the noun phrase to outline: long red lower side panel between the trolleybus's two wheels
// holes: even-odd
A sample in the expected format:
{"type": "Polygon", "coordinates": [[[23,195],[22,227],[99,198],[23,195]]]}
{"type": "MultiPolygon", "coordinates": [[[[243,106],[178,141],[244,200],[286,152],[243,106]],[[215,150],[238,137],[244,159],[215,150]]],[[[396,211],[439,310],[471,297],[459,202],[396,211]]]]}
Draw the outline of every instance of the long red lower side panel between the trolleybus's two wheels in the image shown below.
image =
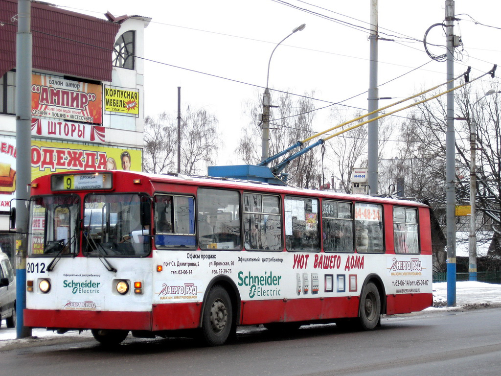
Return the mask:
{"type": "Polygon", "coordinates": [[[339,317],[357,317],[360,299],[334,297],[315,299],[255,300],[242,303],[241,324],[311,321],[339,317]]]}

